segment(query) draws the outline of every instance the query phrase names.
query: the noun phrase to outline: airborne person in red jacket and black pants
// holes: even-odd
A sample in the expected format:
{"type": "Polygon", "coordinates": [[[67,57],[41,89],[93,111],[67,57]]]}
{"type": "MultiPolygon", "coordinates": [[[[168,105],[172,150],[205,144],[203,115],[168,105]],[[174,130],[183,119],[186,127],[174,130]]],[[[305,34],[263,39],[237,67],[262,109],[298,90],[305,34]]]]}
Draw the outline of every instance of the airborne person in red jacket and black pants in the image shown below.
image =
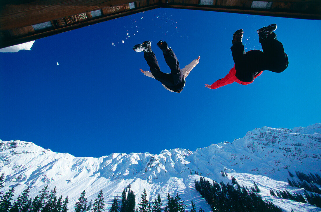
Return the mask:
{"type": "Polygon", "coordinates": [[[242,44],[243,29],[237,30],[233,34],[231,47],[234,67],[224,78],[217,80],[212,85],[205,84],[205,87],[216,89],[233,82],[248,85],[264,70],[276,73],[284,71],[289,64],[288,55],[284,53],[282,43],[276,40],[276,34],[273,32],[276,28],[276,24],[271,24],[256,30],[263,52],[251,50],[247,53],[245,53],[242,44]]]}

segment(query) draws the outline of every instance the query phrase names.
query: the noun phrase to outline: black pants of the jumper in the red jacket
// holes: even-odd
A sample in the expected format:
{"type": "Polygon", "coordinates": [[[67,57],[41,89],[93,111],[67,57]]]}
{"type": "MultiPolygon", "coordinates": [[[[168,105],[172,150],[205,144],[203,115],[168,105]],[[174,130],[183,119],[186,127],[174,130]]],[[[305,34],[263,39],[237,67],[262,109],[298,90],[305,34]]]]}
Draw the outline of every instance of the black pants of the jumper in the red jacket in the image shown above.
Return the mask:
{"type": "Polygon", "coordinates": [[[274,32],[269,37],[260,40],[263,52],[251,50],[245,53],[242,43],[232,45],[231,50],[236,69],[235,76],[240,81],[251,82],[261,71],[269,70],[281,73],[288,67],[288,55],[284,53],[282,43],[276,40],[274,32]]]}

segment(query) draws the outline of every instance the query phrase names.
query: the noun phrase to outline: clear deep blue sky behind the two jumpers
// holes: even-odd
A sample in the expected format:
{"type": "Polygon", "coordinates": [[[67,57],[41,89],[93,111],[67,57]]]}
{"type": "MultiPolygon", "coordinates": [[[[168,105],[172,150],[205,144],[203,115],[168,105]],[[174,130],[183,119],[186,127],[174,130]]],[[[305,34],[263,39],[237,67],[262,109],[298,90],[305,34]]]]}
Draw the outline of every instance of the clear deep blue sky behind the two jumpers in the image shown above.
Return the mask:
{"type": "Polygon", "coordinates": [[[0,139],[100,157],[195,151],[256,127],[320,123],[320,34],[320,20],[161,8],[42,38],[30,51],[0,53],[0,139]],[[256,29],[272,23],[289,56],[285,71],[264,71],[247,86],[205,87],[233,67],[234,31],[244,30],[246,51],[260,50],[256,29]],[[163,72],[159,40],[181,68],[201,56],[182,93],[140,72],[149,68],[132,47],[145,40],[163,72]]]}

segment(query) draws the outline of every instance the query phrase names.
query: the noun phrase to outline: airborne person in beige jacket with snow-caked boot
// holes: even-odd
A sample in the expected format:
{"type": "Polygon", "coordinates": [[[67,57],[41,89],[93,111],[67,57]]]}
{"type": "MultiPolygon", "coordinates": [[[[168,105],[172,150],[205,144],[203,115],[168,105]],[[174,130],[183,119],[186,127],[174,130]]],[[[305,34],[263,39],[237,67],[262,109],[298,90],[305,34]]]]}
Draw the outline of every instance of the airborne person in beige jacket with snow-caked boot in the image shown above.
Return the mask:
{"type": "Polygon", "coordinates": [[[180,93],[185,86],[185,78],[189,72],[198,64],[197,60],[193,60],[188,64],[184,69],[179,68],[179,62],[173,50],[171,50],[166,42],[159,41],[157,45],[163,51],[165,61],[170,68],[171,73],[163,73],[160,71],[158,61],[155,54],[152,52],[151,41],[145,41],[143,44],[137,44],[133,47],[133,50],[136,52],[144,52],[144,58],[150,67],[149,71],[143,71],[140,69],[143,74],[148,77],[155,78],[160,81],[162,85],[169,91],[180,93]]]}

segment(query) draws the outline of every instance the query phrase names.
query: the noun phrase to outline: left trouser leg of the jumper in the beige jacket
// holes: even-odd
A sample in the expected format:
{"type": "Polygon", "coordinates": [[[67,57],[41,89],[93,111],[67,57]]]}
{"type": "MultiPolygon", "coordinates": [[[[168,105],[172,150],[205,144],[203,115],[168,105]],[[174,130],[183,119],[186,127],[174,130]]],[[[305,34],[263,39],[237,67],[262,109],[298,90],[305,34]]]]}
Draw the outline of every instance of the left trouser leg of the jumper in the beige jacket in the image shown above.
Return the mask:
{"type": "Polygon", "coordinates": [[[155,77],[156,80],[160,81],[164,85],[172,85],[172,80],[169,74],[163,73],[160,71],[160,67],[156,56],[153,52],[144,53],[144,58],[150,67],[152,75],[155,77]]]}

